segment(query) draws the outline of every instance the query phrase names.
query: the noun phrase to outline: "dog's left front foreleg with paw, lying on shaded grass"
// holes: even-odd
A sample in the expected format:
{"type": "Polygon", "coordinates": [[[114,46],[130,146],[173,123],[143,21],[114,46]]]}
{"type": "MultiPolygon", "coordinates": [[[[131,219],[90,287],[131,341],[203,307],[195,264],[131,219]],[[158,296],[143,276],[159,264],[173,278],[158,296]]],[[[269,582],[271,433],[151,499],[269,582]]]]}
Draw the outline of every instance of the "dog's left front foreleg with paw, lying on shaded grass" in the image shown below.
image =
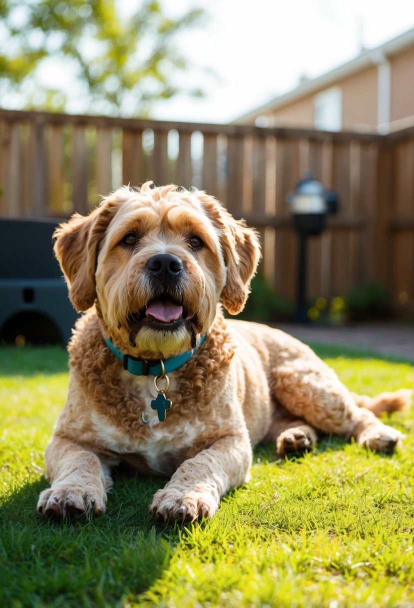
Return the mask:
{"type": "Polygon", "coordinates": [[[46,477],[52,486],[41,492],[38,511],[46,517],[79,519],[89,511],[102,513],[109,469],[96,454],[67,439],[54,438],[46,447],[46,477]]]}

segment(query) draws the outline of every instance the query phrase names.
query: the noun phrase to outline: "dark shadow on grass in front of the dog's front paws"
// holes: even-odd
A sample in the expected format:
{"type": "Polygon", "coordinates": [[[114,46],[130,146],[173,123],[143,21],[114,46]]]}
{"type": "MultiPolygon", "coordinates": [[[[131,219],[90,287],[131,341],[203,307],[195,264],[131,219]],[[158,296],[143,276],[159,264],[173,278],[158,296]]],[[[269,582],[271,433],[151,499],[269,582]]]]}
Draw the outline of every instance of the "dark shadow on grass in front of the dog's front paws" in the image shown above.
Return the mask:
{"type": "Polygon", "coordinates": [[[78,522],[36,513],[44,478],[5,497],[2,606],[124,606],[160,578],[179,541],[178,527],[157,523],[148,510],[164,482],[116,477],[106,513],[78,522]]]}

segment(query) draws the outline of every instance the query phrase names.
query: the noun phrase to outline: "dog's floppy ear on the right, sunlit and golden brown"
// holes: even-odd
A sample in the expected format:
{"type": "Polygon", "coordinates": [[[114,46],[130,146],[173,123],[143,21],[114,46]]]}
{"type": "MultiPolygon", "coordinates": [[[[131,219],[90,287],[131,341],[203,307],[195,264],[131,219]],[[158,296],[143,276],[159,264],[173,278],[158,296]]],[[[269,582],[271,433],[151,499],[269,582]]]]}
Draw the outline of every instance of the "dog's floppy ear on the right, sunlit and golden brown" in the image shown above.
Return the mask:
{"type": "Polygon", "coordinates": [[[227,282],[221,296],[223,306],[230,314],[239,314],[245,306],[250,281],[260,260],[256,230],[246,226],[244,219],[234,219],[217,199],[202,192],[198,195],[209,218],[220,230],[227,266],[227,282]]]}

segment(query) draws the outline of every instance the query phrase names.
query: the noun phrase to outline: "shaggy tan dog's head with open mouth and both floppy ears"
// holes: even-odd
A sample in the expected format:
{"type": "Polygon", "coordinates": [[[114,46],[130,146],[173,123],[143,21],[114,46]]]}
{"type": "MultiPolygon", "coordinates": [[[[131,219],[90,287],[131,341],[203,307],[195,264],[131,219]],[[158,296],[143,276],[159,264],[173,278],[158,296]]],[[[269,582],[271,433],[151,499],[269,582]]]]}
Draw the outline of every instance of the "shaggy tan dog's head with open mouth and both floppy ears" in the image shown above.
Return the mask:
{"type": "Polygon", "coordinates": [[[220,300],[239,313],[260,257],[254,230],[219,201],[152,182],[120,188],[55,238],[73,306],[96,303],[114,344],[148,359],[193,348],[220,300]]]}

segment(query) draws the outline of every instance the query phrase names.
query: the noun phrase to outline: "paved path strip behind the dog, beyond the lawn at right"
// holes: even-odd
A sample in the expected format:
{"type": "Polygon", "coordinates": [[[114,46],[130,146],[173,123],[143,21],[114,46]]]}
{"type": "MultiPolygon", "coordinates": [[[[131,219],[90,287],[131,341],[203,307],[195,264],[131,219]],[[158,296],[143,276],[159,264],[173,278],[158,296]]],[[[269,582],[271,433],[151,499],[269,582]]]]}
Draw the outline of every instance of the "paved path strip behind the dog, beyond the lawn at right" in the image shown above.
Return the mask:
{"type": "Polygon", "coordinates": [[[322,342],[355,348],[368,348],[377,353],[414,361],[414,325],[364,323],[344,327],[323,327],[279,323],[277,327],[304,342],[322,342]]]}

